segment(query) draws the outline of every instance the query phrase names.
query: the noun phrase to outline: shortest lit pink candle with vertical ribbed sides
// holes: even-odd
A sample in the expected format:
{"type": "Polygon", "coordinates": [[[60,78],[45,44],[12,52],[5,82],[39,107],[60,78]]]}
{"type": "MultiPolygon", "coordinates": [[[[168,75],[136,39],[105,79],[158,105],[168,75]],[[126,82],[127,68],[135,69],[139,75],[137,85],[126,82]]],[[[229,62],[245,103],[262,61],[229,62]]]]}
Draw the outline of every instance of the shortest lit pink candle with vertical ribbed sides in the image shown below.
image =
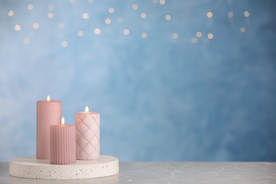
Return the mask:
{"type": "Polygon", "coordinates": [[[50,163],[76,163],[76,127],[75,125],[50,126],[50,163]]]}

